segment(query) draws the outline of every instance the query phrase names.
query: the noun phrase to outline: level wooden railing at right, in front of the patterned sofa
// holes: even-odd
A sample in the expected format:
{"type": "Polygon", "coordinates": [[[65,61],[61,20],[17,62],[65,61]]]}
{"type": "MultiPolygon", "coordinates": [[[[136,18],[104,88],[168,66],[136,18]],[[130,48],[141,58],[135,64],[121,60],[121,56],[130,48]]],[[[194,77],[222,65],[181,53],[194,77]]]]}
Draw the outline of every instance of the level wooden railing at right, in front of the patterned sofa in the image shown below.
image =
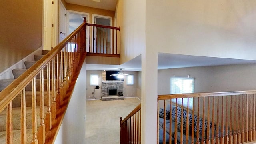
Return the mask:
{"type": "Polygon", "coordinates": [[[256,142],[256,91],[160,95],[158,111],[159,144],[256,142]]]}

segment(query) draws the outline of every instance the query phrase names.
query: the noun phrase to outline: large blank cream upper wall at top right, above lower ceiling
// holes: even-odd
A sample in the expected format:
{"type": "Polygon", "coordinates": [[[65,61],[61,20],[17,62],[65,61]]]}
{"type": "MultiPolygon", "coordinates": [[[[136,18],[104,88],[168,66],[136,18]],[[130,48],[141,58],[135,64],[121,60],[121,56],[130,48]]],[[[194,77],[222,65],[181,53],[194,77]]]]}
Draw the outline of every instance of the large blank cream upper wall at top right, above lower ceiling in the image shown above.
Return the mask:
{"type": "Polygon", "coordinates": [[[147,49],[256,60],[255,8],[255,0],[147,0],[147,49]]]}

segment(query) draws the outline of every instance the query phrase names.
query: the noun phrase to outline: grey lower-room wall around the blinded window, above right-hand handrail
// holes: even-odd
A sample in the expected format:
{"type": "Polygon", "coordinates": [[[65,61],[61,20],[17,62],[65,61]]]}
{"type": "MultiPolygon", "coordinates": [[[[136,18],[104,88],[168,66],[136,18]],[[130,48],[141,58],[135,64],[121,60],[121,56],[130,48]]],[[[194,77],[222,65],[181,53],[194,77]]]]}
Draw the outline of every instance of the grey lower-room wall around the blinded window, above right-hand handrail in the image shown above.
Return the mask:
{"type": "Polygon", "coordinates": [[[170,76],[195,78],[195,92],[256,90],[256,64],[158,70],[158,94],[170,94],[170,76]]]}

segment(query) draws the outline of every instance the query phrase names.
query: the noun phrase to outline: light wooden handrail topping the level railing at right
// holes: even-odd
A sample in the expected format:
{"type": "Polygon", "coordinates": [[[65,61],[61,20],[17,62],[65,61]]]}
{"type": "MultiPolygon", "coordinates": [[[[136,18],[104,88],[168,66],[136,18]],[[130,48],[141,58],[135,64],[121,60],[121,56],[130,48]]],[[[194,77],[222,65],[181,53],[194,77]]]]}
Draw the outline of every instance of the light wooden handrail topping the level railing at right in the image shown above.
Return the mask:
{"type": "Polygon", "coordinates": [[[192,94],[164,94],[158,95],[158,100],[168,100],[172,98],[198,98],[212,96],[229,96],[242,94],[255,94],[256,90],[238,91],[238,92],[208,92],[208,93],[192,93],[192,94]]]}

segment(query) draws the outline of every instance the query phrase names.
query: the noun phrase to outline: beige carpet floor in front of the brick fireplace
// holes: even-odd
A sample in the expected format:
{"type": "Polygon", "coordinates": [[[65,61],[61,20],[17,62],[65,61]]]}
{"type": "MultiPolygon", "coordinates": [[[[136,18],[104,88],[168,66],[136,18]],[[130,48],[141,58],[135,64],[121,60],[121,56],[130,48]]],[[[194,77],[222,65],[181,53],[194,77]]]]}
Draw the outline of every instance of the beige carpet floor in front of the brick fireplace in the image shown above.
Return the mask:
{"type": "Polygon", "coordinates": [[[86,101],[86,144],[120,144],[120,117],[138,104],[138,98],[86,101]]]}

